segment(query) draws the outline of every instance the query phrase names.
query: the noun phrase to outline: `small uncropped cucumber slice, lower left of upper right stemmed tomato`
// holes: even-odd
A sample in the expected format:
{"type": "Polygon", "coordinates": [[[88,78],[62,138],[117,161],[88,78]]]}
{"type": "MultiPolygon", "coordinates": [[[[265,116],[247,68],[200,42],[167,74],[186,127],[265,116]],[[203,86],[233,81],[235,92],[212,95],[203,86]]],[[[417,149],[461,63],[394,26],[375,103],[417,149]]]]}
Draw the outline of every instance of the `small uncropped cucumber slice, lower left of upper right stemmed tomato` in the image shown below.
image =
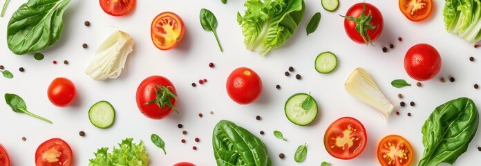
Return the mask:
{"type": "Polygon", "coordinates": [[[327,51],[317,55],[314,61],[314,68],[319,73],[331,73],[337,67],[337,57],[333,53],[327,51]]]}

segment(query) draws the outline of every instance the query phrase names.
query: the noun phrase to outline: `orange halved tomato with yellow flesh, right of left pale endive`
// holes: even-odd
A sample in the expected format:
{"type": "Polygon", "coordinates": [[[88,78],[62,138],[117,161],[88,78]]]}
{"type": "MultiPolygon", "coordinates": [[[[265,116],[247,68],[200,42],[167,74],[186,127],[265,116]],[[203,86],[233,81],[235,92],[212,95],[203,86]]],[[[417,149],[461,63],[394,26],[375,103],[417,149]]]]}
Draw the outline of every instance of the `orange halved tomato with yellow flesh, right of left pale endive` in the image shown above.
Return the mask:
{"type": "Polygon", "coordinates": [[[184,21],[173,12],[162,12],[152,21],[151,37],[160,50],[176,48],[185,34],[184,21]]]}

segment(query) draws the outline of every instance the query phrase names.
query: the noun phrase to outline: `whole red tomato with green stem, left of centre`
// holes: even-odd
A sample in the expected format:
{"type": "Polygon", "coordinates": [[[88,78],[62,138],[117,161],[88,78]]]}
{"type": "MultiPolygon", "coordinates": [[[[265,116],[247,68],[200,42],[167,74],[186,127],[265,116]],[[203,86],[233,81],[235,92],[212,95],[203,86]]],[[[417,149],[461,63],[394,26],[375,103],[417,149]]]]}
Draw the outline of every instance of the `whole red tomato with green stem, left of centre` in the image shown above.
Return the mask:
{"type": "Polygon", "coordinates": [[[140,112],[152,119],[162,119],[176,111],[176,87],[166,77],[153,75],[137,88],[135,100],[140,112]]]}

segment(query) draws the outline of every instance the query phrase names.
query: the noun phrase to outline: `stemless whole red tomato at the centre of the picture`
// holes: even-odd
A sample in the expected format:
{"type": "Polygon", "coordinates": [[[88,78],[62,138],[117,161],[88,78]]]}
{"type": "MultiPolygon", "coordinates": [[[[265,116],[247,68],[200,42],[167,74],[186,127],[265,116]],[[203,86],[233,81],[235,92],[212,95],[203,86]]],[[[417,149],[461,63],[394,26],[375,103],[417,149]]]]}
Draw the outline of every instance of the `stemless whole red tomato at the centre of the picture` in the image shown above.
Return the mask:
{"type": "Polygon", "coordinates": [[[238,104],[254,102],[262,92],[261,77],[250,68],[237,68],[227,78],[227,94],[238,104]]]}

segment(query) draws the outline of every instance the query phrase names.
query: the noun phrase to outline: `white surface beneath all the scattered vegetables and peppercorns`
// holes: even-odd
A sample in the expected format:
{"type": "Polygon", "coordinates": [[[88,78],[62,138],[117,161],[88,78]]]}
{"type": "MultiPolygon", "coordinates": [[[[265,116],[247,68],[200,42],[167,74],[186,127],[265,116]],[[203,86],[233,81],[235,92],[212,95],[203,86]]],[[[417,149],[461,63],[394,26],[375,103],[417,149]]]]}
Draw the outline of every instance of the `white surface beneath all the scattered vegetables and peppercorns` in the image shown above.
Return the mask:
{"type": "MultiPolygon", "coordinates": [[[[75,165],[88,165],[93,152],[100,147],[113,147],[126,137],[134,142],[143,140],[150,165],[173,165],[189,161],[196,165],[216,165],[211,147],[211,132],[218,120],[232,120],[261,138],[267,145],[273,165],[320,165],[328,161],[332,165],[379,165],[376,154],[377,143],[389,134],[399,134],[411,142],[415,149],[417,165],[422,156],[421,127],[435,107],[449,100],[466,96],[481,103],[481,92],[473,84],[481,84],[479,50],[473,48],[457,35],[446,33],[442,17],[444,1],[435,1],[431,16],[422,22],[409,21],[399,11],[397,1],[367,1],[381,10],[384,30],[374,44],[355,44],[343,30],[343,19],[352,4],[360,1],[341,1],[335,12],[327,12],[320,0],[305,1],[305,15],[296,33],[281,48],[272,50],[265,57],[245,50],[241,26],[236,13],[245,9],[243,1],[179,0],[138,1],[135,10],[124,17],[112,17],[102,11],[98,1],[75,1],[64,14],[62,39],[52,48],[41,51],[46,55],[42,61],[32,55],[15,55],[6,44],[6,26],[15,10],[26,1],[10,1],[6,15],[0,18],[0,64],[12,71],[12,80],[0,78],[0,93],[16,93],[28,104],[32,113],[53,121],[53,124],[30,116],[14,113],[4,102],[0,102],[0,142],[8,149],[13,165],[34,165],[35,150],[50,138],[62,138],[73,149],[75,165]],[[214,35],[203,30],[199,22],[200,8],[214,12],[218,19],[218,36],[224,47],[220,53],[214,35]],[[187,33],[178,48],[158,50],[150,37],[152,19],[160,12],[175,12],[185,22],[187,33]],[[305,26],[315,12],[321,12],[321,23],[315,33],[305,35],[305,26]],[[84,21],[91,26],[84,26],[84,21]],[[113,28],[115,27],[115,28],[113,28]],[[129,33],[134,39],[134,51],[129,55],[122,75],[116,80],[98,82],[84,73],[98,46],[115,30],[129,33]],[[403,41],[398,42],[397,37],[403,41]],[[82,48],[82,44],[88,48],[82,48]],[[418,43],[428,43],[441,53],[442,69],[433,80],[414,86],[415,80],[408,77],[403,67],[406,50],[418,43]],[[383,46],[394,44],[394,49],[382,53],[383,46]],[[324,51],[332,51],[339,58],[339,66],[333,73],[322,75],[314,70],[315,57],[324,51]],[[469,62],[469,57],[477,60],[469,62]],[[62,62],[67,59],[69,64],[62,62]],[[479,59],[479,60],[478,60],[479,59]],[[57,60],[58,64],[52,61],[57,60]],[[209,68],[209,62],[216,64],[209,68]],[[263,81],[263,93],[256,102],[238,105],[225,90],[227,76],[235,68],[252,68],[263,81]],[[283,74],[289,66],[295,72],[290,77],[283,74]],[[20,73],[19,67],[25,68],[20,73]],[[398,109],[401,116],[393,113],[385,122],[375,109],[352,98],[343,88],[348,75],[357,67],[364,67],[372,75],[388,98],[398,104],[414,101],[415,107],[398,109]],[[296,80],[295,74],[302,80],[296,80]],[[142,80],[151,75],[162,75],[175,84],[178,91],[178,110],[163,120],[151,120],[140,113],[135,104],[135,91],[142,80]],[[439,77],[455,77],[455,82],[441,83],[439,77]],[[67,77],[77,86],[77,100],[66,108],[55,107],[48,101],[47,87],[55,77],[67,77]],[[206,84],[191,87],[192,82],[207,78],[206,84]],[[402,78],[413,84],[396,89],[392,80],[402,78]],[[275,88],[282,86],[281,90],[275,88]],[[319,105],[317,119],[307,127],[299,127],[285,118],[283,106],[290,95],[299,92],[312,93],[319,105]],[[397,98],[402,93],[404,99],[397,98]],[[97,129],[88,120],[88,109],[97,101],[108,100],[116,109],[113,127],[97,129]],[[210,115],[209,111],[214,111],[210,115]],[[408,112],[411,117],[406,116],[408,112]],[[204,117],[199,118],[198,113],[204,117]],[[261,116],[262,120],[255,119],[261,116]],[[323,134],[328,125],[343,116],[352,116],[361,121],[368,132],[368,144],[360,156],[352,160],[339,160],[330,156],[323,146],[323,134]],[[189,133],[182,135],[184,124],[189,133]],[[79,131],[86,136],[80,137],[79,131]],[[259,131],[265,131],[261,136],[259,131]],[[272,135],[282,131],[287,142],[272,135]],[[150,140],[157,133],[166,142],[167,156],[150,140]],[[22,136],[27,140],[23,142],[22,136]],[[194,138],[200,142],[194,142],[194,138]],[[181,139],[187,143],[182,144],[181,139]],[[308,156],[303,163],[294,162],[294,151],[299,145],[308,144],[308,156]],[[198,150],[192,150],[197,146],[198,150]],[[284,153],[281,160],[278,155],[284,153]]],[[[3,4],[3,1],[0,3],[3,4]]],[[[481,128],[455,165],[481,163],[481,128]]]]}

